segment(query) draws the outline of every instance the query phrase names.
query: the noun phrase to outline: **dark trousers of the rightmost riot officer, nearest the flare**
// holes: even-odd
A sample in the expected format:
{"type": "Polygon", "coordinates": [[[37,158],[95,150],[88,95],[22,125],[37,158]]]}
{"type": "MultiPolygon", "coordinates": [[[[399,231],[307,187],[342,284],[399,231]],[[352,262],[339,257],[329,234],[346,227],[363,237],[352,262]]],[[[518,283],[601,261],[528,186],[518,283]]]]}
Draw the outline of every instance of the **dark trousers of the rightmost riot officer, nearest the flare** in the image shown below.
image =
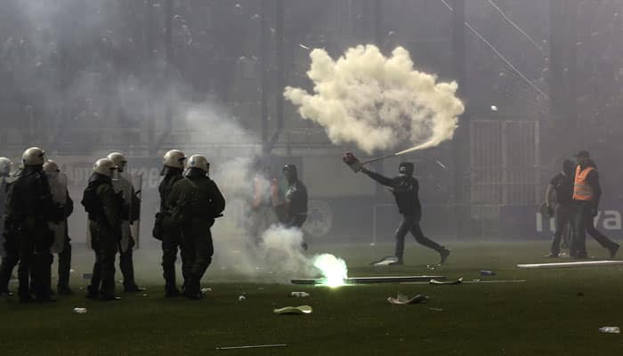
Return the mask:
{"type": "Polygon", "coordinates": [[[182,273],[188,276],[186,291],[199,293],[201,279],[212,263],[214,245],[210,223],[193,220],[183,229],[182,243],[182,273]]]}

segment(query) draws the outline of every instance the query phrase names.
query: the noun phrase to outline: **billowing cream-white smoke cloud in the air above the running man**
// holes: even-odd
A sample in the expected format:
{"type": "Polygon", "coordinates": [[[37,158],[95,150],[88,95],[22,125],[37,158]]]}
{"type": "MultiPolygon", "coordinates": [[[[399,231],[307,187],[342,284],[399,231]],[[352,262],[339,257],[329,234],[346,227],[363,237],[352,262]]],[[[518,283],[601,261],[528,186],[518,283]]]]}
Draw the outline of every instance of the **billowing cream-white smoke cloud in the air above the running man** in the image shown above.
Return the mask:
{"type": "Polygon", "coordinates": [[[322,125],[331,142],[354,142],[372,153],[405,142],[421,150],[452,139],[464,111],[457,83],[417,71],[404,48],[389,58],[370,44],[337,61],[321,49],[310,56],[314,93],[288,86],[284,95],[302,117],[322,125]]]}

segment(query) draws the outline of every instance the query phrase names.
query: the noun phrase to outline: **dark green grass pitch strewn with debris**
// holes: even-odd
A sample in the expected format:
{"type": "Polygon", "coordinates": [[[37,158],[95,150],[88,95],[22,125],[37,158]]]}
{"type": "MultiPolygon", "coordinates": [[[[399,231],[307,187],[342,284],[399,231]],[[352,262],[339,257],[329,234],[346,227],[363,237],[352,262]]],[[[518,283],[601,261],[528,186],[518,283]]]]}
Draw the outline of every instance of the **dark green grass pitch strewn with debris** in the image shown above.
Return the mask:
{"type": "MultiPolygon", "coordinates": [[[[78,253],[72,286],[76,296],[58,303],[0,300],[0,355],[616,355],[623,336],[602,334],[623,326],[623,268],[518,270],[516,263],[546,263],[546,242],[448,243],[449,263],[434,271],[438,256],[409,243],[406,265],[374,268],[390,246],[312,246],[310,254],[344,257],[352,277],[445,274],[450,279],[527,279],[514,284],[429,286],[379,284],[309,287],[236,282],[215,262],[204,279],[206,299],[165,299],[157,250],[136,255],[137,280],[148,295],[123,300],[85,300],[93,256],[78,253]],[[306,291],[309,298],[288,297],[306,291]],[[398,292],[425,294],[428,303],[390,305],[398,292]],[[245,293],[247,299],[239,301],[245,293]],[[274,308],[309,304],[310,315],[284,316],[274,308]],[[75,314],[85,307],[86,314],[75,314]],[[429,308],[442,309],[433,311],[429,308]],[[287,344],[276,349],[216,351],[218,346],[287,344]]],[[[595,258],[605,250],[589,246],[595,258]]],[[[218,255],[218,250],[217,250],[218,255]]],[[[565,260],[566,261],[566,260],[565,260]]],[[[117,271],[118,275],[118,271],[117,271]]],[[[12,284],[12,289],[15,290],[12,284]]]]}

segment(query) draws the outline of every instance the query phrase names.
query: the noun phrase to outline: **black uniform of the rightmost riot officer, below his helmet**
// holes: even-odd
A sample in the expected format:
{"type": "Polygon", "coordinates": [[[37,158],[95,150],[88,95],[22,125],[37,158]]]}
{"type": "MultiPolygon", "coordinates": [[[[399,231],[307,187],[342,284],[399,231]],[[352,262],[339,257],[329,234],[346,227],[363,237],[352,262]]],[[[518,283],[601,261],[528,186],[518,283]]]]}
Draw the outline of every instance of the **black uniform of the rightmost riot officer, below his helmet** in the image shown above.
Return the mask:
{"type": "Polygon", "coordinates": [[[183,268],[186,270],[184,295],[201,297],[201,279],[212,263],[214,246],[210,228],[225,209],[223,194],[206,173],[190,168],[186,178],[174,184],[167,207],[181,223],[183,268]]]}

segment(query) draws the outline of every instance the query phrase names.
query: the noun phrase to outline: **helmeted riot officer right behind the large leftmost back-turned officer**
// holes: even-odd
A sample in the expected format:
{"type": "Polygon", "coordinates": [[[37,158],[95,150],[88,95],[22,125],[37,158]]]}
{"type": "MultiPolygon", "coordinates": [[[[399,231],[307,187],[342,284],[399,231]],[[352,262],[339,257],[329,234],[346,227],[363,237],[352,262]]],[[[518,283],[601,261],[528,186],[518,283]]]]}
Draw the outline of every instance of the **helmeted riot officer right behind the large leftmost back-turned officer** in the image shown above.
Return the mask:
{"type": "Polygon", "coordinates": [[[57,292],[60,295],[73,295],[74,291],[69,287],[69,271],[71,270],[71,239],[69,239],[67,219],[74,211],[74,201],[69,197],[67,189],[67,176],[61,173],[61,169],[53,160],[44,164],[44,172],[50,182],[53,201],[62,210],[62,219],[59,222],[48,224],[53,232],[54,242],[52,252],[59,256],[59,280],[57,292]]]}

